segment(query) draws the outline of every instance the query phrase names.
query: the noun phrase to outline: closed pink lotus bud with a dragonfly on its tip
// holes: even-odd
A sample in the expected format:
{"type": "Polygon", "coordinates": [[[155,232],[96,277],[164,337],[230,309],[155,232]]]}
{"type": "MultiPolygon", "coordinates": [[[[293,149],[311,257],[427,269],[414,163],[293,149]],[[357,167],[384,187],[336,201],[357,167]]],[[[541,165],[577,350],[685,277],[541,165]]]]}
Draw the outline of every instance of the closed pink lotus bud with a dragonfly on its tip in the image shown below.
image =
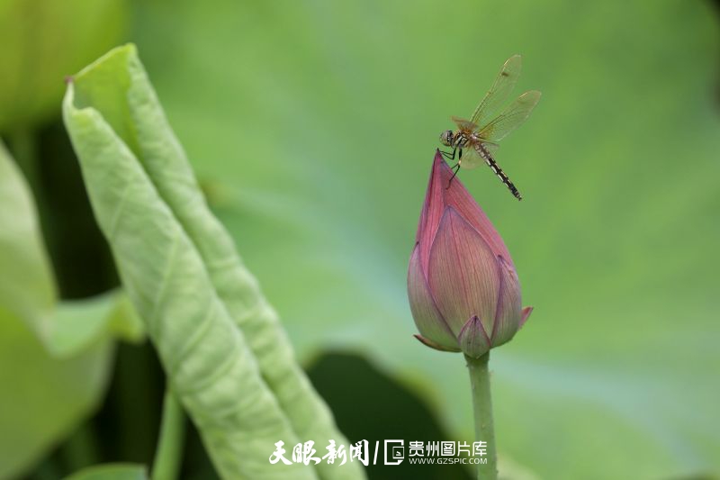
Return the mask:
{"type": "Polygon", "coordinates": [[[521,307],[498,231],[452,176],[437,152],[410,257],[410,310],[428,347],[480,358],[512,339],[533,308],[521,307]]]}

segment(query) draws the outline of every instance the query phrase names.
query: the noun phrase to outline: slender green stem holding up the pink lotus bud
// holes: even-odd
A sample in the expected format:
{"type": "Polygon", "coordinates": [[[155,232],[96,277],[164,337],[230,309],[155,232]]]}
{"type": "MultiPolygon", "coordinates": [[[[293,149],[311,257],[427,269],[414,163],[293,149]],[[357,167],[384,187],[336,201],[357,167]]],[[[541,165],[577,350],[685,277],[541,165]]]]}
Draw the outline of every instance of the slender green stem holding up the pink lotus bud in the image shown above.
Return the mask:
{"type": "Polygon", "coordinates": [[[490,371],[488,361],[490,352],[481,358],[465,356],[470,372],[470,385],[473,389],[473,414],[475,417],[475,440],[486,445],[487,464],[477,464],[478,480],[496,480],[498,478],[498,458],[495,449],[495,430],[492,425],[492,401],[490,394],[490,371]]]}

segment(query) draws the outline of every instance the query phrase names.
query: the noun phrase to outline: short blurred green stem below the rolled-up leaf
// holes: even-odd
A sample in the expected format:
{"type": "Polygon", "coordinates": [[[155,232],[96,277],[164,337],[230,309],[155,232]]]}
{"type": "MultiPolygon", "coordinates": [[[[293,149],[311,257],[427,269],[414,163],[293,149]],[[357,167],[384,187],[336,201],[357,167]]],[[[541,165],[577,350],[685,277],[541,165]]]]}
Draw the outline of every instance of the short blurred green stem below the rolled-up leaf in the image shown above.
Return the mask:
{"type": "Polygon", "coordinates": [[[163,401],[163,420],[152,466],[152,480],[175,480],[181,466],[185,416],[183,406],[169,388],[163,401]]]}

